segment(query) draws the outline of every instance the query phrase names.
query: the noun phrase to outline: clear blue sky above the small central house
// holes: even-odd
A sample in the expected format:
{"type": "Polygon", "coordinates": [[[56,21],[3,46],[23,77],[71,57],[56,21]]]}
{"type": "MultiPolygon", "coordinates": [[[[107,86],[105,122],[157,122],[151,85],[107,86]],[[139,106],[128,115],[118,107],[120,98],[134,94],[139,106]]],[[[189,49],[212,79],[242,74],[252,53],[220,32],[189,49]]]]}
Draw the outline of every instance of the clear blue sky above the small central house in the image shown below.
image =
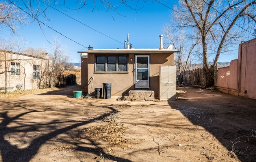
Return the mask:
{"type": "MultiPolygon", "coordinates": [[[[70,1],[69,1],[70,2],[70,1]]],[[[91,2],[91,1],[90,1],[91,2]]],[[[88,3],[90,3],[88,1],[88,3]]],[[[116,1],[119,2],[119,1],[116,1]]],[[[131,6],[135,6],[135,2],[131,1],[131,6]]],[[[85,25],[82,25],[75,20],[59,13],[58,11],[48,8],[46,15],[50,21],[45,21],[47,25],[53,27],[63,35],[75,40],[83,46],[91,45],[95,49],[115,49],[123,48],[124,40],[127,39],[127,33],[130,34],[130,43],[135,48],[159,48],[159,35],[163,34],[161,29],[163,25],[170,23],[171,10],[154,0],[148,0],[146,3],[140,1],[140,10],[135,11],[123,4],[120,4],[115,11],[111,10],[111,13],[98,3],[97,9],[93,12],[92,4],[79,10],[69,10],[65,7],[61,10],[65,14],[75,18],[76,20],[92,27],[93,29],[104,33],[105,35],[118,40],[119,42],[112,40],[85,25]],[[121,16],[123,15],[123,16],[121,16]],[[113,17],[112,17],[113,16],[113,17]]],[[[163,4],[173,7],[176,1],[162,0],[163,4]]],[[[72,7],[71,4],[66,4],[72,7]]],[[[62,44],[65,45],[67,53],[70,56],[70,62],[80,62],[80,55],[77,51],[85,51],[83,46],[80,46],[69,39],[59,35],[58,33],[43,27],[43,32],[39,26],[33,22],[26,26],[20,26],[18,35],[28,41],[28,47],[41,48],[50,46],[46,38],[51,42],[53,36],[58,36],[62,44]]],[[[10,31],[3,30],[2,36],[8,37],[11,35],[10,31]]],[[[230,62],[237,58],[237,51],[233,51],[234,55],[221,55],[219,62],[230,62]]],[[[212,58],[209,58],[212,61],[212,58]]]]}

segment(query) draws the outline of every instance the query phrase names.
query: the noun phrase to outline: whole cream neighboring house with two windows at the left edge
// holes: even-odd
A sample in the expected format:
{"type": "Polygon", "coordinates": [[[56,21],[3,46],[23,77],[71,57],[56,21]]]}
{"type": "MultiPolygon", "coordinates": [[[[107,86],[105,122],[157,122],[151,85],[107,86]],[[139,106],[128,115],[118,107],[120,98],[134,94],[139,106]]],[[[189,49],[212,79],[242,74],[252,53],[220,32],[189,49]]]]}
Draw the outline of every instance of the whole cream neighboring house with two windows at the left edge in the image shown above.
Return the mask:
{"type": "Polygon", "coordinates": [[[4,91],[6,83],[8,91],[46,87],[47,65],[46,54],[39,57],[0,50],[0,89],[4,91]]]}

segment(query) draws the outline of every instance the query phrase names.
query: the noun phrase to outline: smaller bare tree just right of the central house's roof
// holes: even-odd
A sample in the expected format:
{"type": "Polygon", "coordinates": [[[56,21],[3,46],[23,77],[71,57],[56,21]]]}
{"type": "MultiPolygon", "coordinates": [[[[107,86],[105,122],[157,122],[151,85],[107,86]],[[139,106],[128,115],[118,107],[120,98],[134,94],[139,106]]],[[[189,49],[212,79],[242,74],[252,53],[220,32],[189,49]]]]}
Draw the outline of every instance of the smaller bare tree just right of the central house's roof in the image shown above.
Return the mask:
{"type": "Polygon", "coordinates": [[[176,31],[170,24],[164,26],[163,33],[165,34],[165,44],[172,44],[175,49],[180,51],[175,55],[174,61],[179,71],[185,71],[191,55],[195,53],[195,47],[200,43],[199,39],[184,30],[176,31]]]}

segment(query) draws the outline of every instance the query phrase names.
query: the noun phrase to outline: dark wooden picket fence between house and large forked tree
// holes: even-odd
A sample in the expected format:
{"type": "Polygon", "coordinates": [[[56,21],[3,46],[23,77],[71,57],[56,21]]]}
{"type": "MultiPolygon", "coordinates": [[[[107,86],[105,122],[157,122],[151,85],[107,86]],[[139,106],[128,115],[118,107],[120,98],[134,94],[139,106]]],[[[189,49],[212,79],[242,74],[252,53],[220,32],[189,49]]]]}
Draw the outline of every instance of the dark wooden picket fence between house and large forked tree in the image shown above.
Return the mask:
{"type": "Polygon", "coordinates": [[[204,69],[198,68],[193,70],[182,71],[180,73],[180,82],[204,86],[204,69]]]}

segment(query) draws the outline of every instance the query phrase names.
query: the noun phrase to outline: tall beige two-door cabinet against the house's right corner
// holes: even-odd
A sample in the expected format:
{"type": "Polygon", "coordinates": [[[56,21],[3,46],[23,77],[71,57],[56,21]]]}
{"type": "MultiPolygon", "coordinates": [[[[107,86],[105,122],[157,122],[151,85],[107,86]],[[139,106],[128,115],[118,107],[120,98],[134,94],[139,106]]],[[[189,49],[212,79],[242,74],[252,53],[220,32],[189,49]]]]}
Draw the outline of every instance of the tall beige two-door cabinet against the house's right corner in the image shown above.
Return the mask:
{"type": "Polygon", "coordinates": [[[160,100],[176,100],[176,66],[159,67],[160,100]]]}

